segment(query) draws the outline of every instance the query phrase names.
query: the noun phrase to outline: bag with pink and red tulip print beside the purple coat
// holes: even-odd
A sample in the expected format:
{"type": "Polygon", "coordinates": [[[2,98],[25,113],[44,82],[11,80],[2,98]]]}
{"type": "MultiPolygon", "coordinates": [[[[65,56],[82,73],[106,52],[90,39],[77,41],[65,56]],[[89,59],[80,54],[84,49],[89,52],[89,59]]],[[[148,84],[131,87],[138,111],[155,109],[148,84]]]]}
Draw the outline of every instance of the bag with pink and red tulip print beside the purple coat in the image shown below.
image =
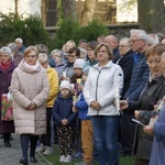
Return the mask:
{"type": "Polygon", "coordinates": [[[13,108],[12,108],[12,96],[10,91],[1,95],[2,108],[1,108],[1,120],[11,121],[13,120],[13,108]]]}

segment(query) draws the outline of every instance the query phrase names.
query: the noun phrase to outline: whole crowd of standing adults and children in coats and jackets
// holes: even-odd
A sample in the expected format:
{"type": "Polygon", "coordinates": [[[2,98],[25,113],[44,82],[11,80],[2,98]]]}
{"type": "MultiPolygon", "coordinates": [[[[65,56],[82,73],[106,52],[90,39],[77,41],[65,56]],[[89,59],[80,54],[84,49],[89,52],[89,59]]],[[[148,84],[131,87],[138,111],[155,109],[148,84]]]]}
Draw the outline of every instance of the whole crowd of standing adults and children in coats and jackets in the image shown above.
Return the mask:
{"type": "Polygon", "coordinates": [[[0,112],[4,146],[19,134],[23,165],[36,163],[37,152],[53,154],[55,139],[61,163],[119,165],[120,156],[135,155],[134,165],[164,165],[164,41],[131,30],[120,41],[101,34],[51,53],[20,37],[2,46],[0,95],[10,94],[13,108],[13,120],[0,112]]]}

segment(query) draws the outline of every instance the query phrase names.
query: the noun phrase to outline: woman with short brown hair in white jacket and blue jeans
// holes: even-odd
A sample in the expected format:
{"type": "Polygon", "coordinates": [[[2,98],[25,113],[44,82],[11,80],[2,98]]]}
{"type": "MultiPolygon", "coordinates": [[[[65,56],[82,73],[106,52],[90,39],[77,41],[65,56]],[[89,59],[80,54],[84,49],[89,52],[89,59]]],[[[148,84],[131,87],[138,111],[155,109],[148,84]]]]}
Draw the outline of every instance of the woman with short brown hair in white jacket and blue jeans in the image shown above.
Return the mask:
{"type": "Polygon", "coordinates": [[[121,91],[123,87],[123,72],[119,65],[112,63],[113,52],[108,44],[99,44],[95,53],[98,64],[89,70],[84,96],[89,106],[88,116],[94,128],[99,164],[117,165],[120,111],[113,102],[116,91],[121,91]]]}

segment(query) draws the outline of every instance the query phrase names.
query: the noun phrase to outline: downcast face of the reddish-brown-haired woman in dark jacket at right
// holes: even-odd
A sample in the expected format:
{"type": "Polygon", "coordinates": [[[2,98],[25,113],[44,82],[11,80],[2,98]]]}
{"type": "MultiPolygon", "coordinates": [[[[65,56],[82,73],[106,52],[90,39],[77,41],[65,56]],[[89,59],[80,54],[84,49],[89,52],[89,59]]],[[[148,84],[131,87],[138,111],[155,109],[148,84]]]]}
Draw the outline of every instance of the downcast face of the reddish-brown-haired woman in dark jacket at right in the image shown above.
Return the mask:
{"type": "Polygon", "coordinates": [[[150,72],[153,77],[158,77],[163,75],[162,66],[161,66],[161,56],[154,54],[147,57],[147,64],[150,67],[150,72]]]}

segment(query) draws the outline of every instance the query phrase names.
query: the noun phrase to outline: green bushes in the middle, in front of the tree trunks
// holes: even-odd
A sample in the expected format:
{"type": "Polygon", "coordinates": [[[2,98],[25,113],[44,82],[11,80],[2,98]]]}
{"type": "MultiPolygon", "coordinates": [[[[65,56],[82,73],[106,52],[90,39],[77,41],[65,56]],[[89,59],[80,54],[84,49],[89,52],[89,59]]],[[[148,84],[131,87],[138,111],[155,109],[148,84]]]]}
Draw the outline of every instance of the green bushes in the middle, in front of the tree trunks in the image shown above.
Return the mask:
{"type": "Polygon", "coordinates": [[[108,34],[106,25],[98,21],[92,21],[86,26],[80,26],[78,21],[74,19],[63,20],[61,29],[56,32],[54,38],[55,47],[62,48],[62,46],[69,40],[78,43],[79,40],[84,38],[89,41],[96,41],[97,36],[108,34]]]}

